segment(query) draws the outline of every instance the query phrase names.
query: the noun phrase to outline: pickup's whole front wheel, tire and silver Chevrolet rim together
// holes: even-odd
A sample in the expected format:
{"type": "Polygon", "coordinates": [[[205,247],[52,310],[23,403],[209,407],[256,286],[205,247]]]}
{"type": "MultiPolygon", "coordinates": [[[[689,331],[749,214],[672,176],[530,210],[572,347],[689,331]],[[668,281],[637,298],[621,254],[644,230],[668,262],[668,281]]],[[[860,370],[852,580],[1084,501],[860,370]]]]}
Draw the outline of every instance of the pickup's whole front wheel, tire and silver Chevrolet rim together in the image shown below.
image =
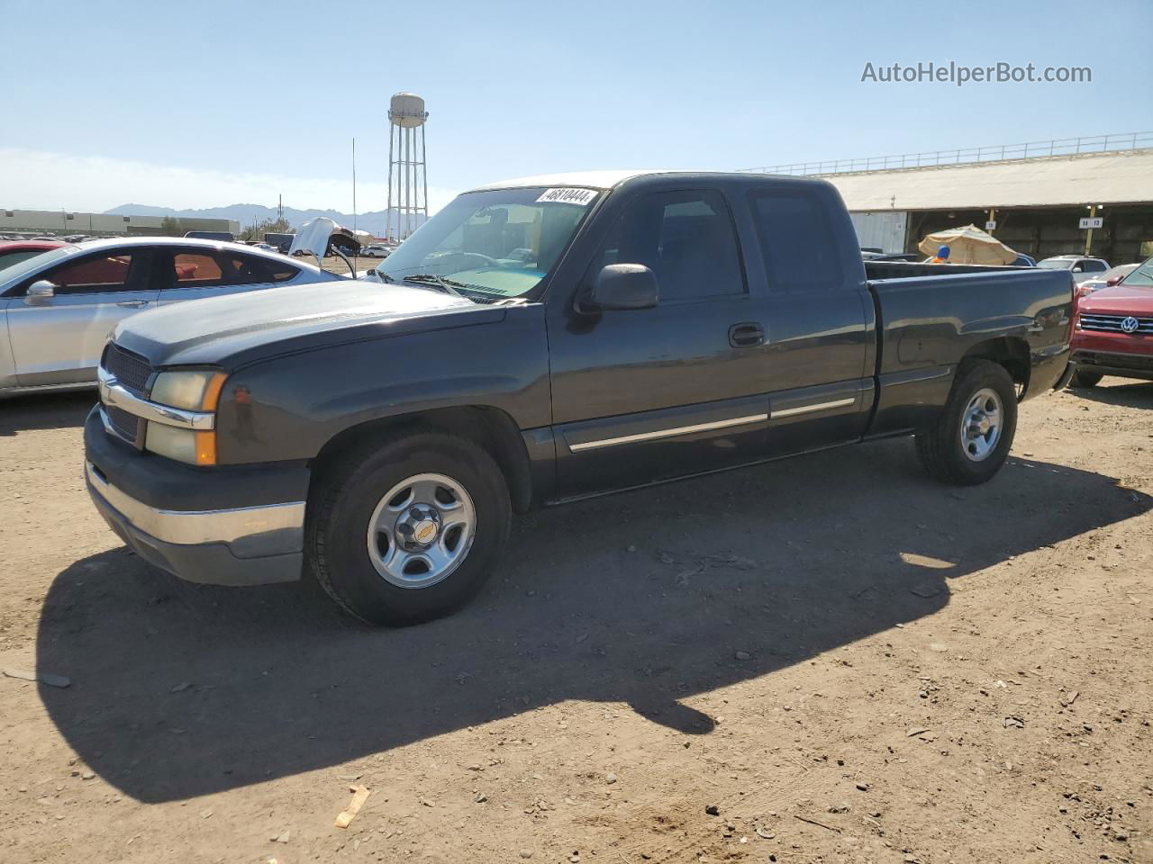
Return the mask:
{"type": "Polygon", "coordinates": [[[319,480],[307,554],[317,581],[372,624],[428,621],[462,606],[508,537],[504,476],[472,441],[439,432],[361,448],[319,480]]]}

